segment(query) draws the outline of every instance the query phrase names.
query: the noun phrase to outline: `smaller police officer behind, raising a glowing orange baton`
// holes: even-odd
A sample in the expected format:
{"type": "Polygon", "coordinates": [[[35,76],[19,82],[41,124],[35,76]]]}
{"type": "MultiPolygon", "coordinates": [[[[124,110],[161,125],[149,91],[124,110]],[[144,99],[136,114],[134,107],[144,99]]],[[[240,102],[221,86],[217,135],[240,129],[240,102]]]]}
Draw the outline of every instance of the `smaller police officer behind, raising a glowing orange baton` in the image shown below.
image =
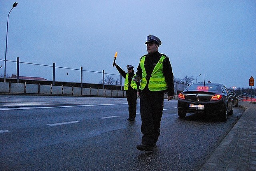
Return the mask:
{"type": "Polygon", "coordinates": [[[124,90],[126,91],[126,98],[128,102],[129,118],[127,120],[134,121],[136,117],[137,110],[137,84],[133,81],[135,73],[132,65],[127,65],[127,73],[122,70],[116,63],[113,63],[116,66],[118,72],[124,77],[124,90]]]}

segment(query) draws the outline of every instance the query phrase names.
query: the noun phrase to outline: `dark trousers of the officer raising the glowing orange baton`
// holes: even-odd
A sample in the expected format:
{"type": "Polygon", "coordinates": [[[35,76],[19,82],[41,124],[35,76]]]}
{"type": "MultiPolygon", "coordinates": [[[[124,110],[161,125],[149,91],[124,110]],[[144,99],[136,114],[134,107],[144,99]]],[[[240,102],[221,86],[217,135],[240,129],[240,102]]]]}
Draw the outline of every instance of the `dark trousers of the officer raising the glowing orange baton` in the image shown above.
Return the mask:
{"type": "Polygon", "coordinates": [[[135,118],[137,110],[137,90],[127,90],[126,98],[128,102],[129,118],[135,118]]]}

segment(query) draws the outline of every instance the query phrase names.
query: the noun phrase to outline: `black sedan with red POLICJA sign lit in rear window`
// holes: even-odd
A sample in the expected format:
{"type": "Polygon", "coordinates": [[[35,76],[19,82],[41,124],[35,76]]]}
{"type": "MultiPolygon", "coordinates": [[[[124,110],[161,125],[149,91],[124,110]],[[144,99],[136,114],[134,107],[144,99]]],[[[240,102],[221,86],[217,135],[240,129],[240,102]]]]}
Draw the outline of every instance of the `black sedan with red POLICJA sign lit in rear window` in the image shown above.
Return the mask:
{"type": "Polygon", "coordinates": [[[178,95],[178,116],[183,118],[187,113],[203,113],[227,121],[228,115],[233,114],[233,101],[222,84],[192,84],[178,95]]]}

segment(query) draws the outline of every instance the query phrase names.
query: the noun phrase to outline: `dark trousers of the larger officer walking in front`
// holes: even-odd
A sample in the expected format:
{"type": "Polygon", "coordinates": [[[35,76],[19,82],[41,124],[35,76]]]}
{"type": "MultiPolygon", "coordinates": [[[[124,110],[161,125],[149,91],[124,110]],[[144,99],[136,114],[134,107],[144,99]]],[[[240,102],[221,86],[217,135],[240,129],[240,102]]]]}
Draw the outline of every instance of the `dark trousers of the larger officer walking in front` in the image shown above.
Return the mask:
{"type": "Polygon", "coordinates": [[[152,146],[160,136],[160,122],[164,108],[164,92],[141,92],[140,115],[142,144],[152,146]]]}

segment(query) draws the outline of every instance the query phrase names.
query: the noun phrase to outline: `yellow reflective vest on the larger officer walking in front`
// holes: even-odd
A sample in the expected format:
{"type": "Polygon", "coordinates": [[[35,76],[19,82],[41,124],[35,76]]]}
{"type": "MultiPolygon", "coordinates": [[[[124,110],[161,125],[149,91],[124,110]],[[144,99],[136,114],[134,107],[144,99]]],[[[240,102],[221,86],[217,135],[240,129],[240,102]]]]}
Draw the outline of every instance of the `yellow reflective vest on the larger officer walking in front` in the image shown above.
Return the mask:
{"type": "MultiPolygon", "coordinates": [[[[142,79],[140,82],[140,90],[143,90],[147,85],[147,73],[144,67],[146,56],[143,56],[140,60],[140,67],[142,69],[142,79]]],[[[167,84],[165,81],[164,73],[163,73],[163,61],[166,57],[162,55],[162,57],[159,59],[158,63],[154,67],[154,70],[152,71],[152,74],[149,78],[148,83],[148,89],[150,91],[161,91],[161,90],[167,90],[167,84]]]]}

